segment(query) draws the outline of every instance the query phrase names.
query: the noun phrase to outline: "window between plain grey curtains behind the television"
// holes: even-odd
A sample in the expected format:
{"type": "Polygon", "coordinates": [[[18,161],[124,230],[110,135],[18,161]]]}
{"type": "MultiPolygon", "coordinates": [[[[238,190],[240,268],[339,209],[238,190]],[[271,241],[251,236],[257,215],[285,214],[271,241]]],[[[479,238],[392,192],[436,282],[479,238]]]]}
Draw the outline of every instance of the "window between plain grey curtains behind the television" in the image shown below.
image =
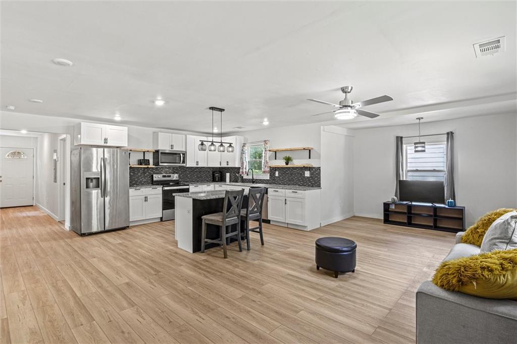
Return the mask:
{"type": "Polygon", "coordinates": [[[414,145],[405,145],[405,179],[409,181],[444,181],[446,171],[445,142],[425,144],[424,153],[415,153],[414,145]]]}

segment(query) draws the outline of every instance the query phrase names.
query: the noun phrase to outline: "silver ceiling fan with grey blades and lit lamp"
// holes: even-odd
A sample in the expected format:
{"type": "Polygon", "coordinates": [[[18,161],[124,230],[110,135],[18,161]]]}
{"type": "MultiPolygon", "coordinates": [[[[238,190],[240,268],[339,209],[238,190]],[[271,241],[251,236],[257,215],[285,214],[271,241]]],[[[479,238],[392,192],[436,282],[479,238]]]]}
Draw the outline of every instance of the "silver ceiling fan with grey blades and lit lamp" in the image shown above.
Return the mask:
{"type": "Polygon", "coordinates": [[[337,108],[336,110],[318,113],[313,116],[320,116],[320,115],[324,115],[326,113],[333,112],[334,117],[336,117],[337,119],[352,119],[352,118],[355,118],[357,115],[365,116],[368,118],[375,118],[375,117],[379,116],[378,113],[366,111],[361,108],[366,107],[368,105],[373,105],[373,104],[378,104],[378,103],[383,103],[385,101],[393,100],[392,97],[390,97],[388,95],[384,95],[384,96],[367,99],[367,100],[363,100],[363,101],[354,103],[351,99],[348,99],[348,94],[352,92],[352,89],[353,89],[352,86],[341,87],[341,92],[343,92],[345,94],[345,99],[341,100],[339,102],[339,105],[334,104],[334,103],[329,103],[329,102],[323,101],[323,100],[318,100],[318,99],[307,99],[310,101],[315,101],[317,103],[328,104],[328,105],[331,105],[331,106],[337,108]]]}

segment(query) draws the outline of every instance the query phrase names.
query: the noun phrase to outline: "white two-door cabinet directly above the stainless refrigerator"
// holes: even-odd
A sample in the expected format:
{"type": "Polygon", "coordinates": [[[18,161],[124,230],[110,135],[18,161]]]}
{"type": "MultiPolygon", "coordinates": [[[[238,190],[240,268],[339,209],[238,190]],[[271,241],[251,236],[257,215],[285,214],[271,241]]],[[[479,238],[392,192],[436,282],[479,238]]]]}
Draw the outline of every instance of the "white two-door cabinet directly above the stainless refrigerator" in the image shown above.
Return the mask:
{"type": "Polygon", "coordinates": [[[74,145],[127,147],[128,128],[117,125],[81,122],[74,127],[74,145]]]}

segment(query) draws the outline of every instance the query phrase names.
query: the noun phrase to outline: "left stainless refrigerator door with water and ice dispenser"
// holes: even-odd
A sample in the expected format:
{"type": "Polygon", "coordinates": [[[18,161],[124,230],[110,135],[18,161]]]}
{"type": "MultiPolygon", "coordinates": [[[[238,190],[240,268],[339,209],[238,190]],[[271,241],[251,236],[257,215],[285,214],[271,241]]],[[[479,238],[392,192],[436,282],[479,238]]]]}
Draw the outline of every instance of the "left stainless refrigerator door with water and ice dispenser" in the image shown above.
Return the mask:
{"type": "Polygon", "coordinates": [[[81,149],[81,234],[104,230],[103,148],[81,149]]]}

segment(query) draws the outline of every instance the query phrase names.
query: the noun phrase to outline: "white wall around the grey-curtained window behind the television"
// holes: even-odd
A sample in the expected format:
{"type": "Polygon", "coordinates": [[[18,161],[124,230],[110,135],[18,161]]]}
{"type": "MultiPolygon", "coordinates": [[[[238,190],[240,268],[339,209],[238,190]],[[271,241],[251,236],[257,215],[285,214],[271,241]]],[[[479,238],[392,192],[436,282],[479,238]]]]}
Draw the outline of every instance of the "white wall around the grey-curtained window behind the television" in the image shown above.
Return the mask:
{"type": "MultiPolygon", "coordinates": [[[[457,204],[467,225],[499,207],[517,207],[517,114],[422,123],[422,134],[454,131],[457,204]]],[[[382,218],[382,203],[395,187],[395,137],[413,136],[416,125],[356,130],[355,214],[382,218]]]]}

